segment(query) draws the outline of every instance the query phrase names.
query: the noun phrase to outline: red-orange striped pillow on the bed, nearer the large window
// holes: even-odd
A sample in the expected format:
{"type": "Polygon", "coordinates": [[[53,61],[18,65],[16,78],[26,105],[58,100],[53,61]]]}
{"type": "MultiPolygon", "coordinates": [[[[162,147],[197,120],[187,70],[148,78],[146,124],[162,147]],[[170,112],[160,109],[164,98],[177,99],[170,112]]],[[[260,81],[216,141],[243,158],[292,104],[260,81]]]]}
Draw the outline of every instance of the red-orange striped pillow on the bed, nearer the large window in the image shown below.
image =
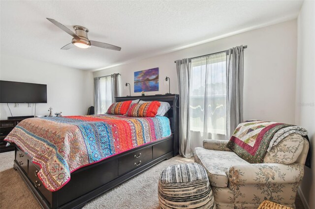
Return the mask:
{"type": "Polygon", "coordinates": [[[161,104],[158,101],[132,104],[125,116],[129,117],[155,117],[158,113],[158,107],[161,104]]]}

